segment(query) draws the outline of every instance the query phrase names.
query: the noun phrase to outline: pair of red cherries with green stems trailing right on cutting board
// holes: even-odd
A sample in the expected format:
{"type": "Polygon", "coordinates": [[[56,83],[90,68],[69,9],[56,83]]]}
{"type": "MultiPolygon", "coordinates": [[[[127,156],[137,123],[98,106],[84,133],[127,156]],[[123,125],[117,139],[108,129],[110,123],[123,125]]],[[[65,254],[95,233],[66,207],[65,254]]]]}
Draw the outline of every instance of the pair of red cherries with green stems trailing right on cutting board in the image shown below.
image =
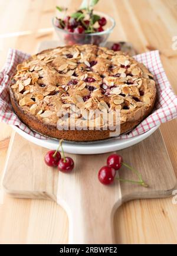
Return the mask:
{"type": "Polygon", "coordinates": [[[142,180],[141,174],[137,170],[135,170],[135,168],[132,168],[128,164],[124,163],[122,156],[118,154],[109,155],[109,157],[107,158],[107,166],[103,166],[100,168],[98,177],[99,181],[104,185],[112,184],[116,177],[116,179],[120,180],[121,182],[136,183],[140,186],[148,187],[148,185],[142,180]],[[116,171],[119,170],[122,165],[132,170],[133,173],[137,175],[139,180],[124,180],[116,177],[116,171]]]}

